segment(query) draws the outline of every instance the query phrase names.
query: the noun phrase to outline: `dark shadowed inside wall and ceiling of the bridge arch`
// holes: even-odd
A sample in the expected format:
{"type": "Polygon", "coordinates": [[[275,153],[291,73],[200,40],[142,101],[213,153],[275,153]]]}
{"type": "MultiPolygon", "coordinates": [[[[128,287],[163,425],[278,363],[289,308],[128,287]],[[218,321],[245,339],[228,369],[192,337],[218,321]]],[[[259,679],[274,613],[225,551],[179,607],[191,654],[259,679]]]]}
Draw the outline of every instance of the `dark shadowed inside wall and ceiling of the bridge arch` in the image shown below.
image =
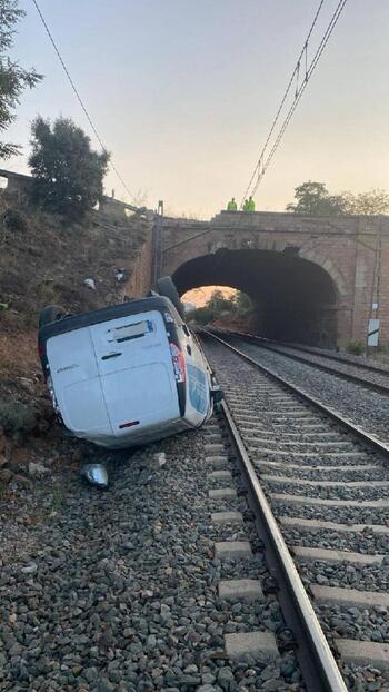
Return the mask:
{"type": "Polygon", "coordinates": [[[215,285],[246,293],[256,305],[256,330],[261,336],[337,346],[337,286],[326,269],[299,257],[298,249],[221,248],[183,263],[172,278],[180,295],[215,285]]]}

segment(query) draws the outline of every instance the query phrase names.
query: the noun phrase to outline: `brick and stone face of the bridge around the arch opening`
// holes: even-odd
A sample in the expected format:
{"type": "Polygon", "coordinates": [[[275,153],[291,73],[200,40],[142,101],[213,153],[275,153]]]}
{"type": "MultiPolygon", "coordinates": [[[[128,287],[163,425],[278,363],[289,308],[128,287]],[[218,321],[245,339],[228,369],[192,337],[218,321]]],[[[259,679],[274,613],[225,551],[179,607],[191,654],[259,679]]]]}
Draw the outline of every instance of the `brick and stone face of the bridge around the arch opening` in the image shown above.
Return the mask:
{"type": "Polygon", "coordinates": [[[365,340],[370,317],[380,318],[380,340],[389,340],[389,217],[221,212],[210,223],[163,219],[161,246],[164,275],[220,248],[289,248],[331,277],[339,342],[365,340]]]}

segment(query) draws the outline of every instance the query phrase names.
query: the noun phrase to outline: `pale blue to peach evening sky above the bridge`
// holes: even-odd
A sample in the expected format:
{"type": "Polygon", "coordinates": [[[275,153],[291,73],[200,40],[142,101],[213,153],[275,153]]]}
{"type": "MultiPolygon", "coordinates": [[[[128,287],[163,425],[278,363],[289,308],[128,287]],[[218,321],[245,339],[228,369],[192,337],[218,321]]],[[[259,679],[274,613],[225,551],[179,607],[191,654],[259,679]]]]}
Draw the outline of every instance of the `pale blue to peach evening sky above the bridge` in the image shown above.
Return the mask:
{"type": "MultiPolygon", "coordinates": [[[[319,0],[40,0],[114,166],[139,200],[211,218],[240,201],[319,0]]],[[[312,55],[338,0],[325,0],[312,55]]],[[[9,139],[28,172],[37,113],[72,118],[99,145],[32,0],[12,57],[44,80],[24,91],[9,139]]],[[[348,0],[259,186],[259,210],[282,211],[305,180],[331,192],[389,190],[389,2],[348,0]]],[[[114,172],[106,190],[127,201],[114,172]]]]}

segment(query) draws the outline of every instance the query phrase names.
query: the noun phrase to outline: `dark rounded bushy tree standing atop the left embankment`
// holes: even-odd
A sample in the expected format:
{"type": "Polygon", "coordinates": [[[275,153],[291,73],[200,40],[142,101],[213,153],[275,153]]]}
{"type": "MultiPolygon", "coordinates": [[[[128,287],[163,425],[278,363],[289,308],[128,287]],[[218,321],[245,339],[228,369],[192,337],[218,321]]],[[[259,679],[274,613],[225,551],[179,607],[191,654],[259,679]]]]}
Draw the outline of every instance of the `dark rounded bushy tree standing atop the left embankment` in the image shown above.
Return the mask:
{"type": "Polygon", "coordinates": [[[109,154],[92,151],[90,139],[72,120],[51,125],[38,116],[31,126],[32,199],[60,214],[83,215],[102,195],[109,154]]]}

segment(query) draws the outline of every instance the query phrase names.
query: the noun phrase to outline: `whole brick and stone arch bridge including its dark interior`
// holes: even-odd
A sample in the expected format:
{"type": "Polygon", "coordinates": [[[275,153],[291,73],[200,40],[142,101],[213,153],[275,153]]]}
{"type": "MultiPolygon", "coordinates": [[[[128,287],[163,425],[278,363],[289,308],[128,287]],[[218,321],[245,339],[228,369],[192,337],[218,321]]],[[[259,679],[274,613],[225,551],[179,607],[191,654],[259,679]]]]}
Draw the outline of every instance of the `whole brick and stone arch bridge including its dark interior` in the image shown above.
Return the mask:
{"type": "Polygon", "coordinates": [[[243,290],[269,338],[366,342],[378,319],[380,342],[389,340],[389,217],[157,216],[152,245],[152,283],[171,275],[181,295],[207,285],[243,290]]]}

